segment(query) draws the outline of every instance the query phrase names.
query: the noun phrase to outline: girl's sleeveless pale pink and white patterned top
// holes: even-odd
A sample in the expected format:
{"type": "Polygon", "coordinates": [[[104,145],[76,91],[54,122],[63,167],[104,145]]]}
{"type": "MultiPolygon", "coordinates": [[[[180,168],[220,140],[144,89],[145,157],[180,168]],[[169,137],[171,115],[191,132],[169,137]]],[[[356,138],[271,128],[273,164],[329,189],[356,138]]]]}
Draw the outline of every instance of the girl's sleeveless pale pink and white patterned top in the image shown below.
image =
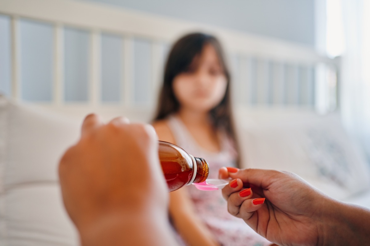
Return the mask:
{"type": "MultiPolygon", "coordinates": [[[[221,167],[235,167],[237,153],[230,138],[219,133],[220,152],[210,152],[195,141],[179,117],[171,115],[168,126],[175,138],[176,145],[195,157],[204,158],[209,164],[210,179],[218,178],[221,167]]],[[[201,191],[190,185],[186,188],[194,203],[194,210],[223,246],[267,246],[271,243],[258,235],[242,219],[228,213],[227,203],[222,198],[221,190],[201,191]]],[[[180,240],[181,241],[181,240],[180,240]]],[[[182,245],[185,245],[184,243],[182,245]]]]}

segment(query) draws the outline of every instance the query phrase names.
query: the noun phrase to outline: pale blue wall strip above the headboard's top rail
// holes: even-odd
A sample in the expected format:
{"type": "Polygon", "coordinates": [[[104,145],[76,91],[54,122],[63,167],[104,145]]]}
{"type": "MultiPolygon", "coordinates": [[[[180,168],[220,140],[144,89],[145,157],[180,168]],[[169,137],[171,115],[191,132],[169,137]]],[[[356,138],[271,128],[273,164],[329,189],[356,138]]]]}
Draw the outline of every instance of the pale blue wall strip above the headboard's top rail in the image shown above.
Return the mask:
{"type": "Polygon", "coordinates": [[[78,0],[202,22],[314,46],[313,0],[78,0]]]}

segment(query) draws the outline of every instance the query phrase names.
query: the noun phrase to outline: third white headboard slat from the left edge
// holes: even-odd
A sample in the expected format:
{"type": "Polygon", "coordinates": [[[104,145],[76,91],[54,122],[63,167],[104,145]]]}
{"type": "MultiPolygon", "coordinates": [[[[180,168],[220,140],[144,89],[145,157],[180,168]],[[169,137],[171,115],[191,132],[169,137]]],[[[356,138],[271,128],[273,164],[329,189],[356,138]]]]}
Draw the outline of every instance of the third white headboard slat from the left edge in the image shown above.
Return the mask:
{"type": "Polygon", "coordinates": [[[101,35],[97,30],[91,32],[90,76],[90,104],[98,105],[101,99],[101,35]]]}

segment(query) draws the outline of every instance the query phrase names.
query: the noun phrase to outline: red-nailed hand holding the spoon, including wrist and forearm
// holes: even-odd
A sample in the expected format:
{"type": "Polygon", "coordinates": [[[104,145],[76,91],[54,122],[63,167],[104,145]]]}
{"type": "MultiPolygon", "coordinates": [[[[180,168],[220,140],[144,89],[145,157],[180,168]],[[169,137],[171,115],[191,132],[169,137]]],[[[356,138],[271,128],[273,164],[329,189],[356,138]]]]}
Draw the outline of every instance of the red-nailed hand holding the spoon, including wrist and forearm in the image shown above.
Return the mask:
{"type": "Polygon", "coordinates": [[[368,209],[334,200],[293,173],[222,168],[219,177],[233,179],[222,190],[228,211],[271,242],[278,245],[370,242],[368,209]]]}

